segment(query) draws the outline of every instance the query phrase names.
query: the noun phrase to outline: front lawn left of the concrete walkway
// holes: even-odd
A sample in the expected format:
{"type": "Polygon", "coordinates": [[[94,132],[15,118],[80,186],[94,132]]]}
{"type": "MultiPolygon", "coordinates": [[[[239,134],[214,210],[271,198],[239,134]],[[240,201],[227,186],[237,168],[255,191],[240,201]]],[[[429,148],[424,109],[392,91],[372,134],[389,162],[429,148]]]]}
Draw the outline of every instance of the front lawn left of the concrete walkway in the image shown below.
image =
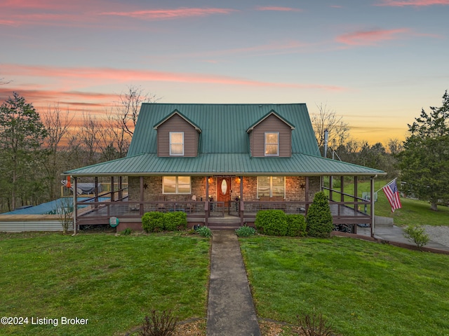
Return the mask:
{"type": "Polygon", "coordinates": [[[0,234],[0,316],[29,318],[0,335],[123,335],[151,309],[205,317],[209,246],[179,234],[0,234]],[[88,324],[60,325],[62,316],[88,324]]]}

